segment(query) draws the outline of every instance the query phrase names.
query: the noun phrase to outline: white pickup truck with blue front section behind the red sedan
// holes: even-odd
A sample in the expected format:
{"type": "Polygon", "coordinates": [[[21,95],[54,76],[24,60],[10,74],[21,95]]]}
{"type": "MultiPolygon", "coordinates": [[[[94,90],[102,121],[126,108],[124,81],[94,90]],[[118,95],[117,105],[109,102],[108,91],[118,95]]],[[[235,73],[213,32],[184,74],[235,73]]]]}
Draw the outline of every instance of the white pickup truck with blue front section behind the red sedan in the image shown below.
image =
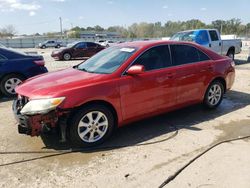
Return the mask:
{"type": "Polygon", "coordinates": [[[234,59],[234,55],[241,52],[242,42],[240,39],[222,40],[217,29],[197,29],[178,32],[170,40],[192,41],[210,48],[221,55],[234,59]]]}

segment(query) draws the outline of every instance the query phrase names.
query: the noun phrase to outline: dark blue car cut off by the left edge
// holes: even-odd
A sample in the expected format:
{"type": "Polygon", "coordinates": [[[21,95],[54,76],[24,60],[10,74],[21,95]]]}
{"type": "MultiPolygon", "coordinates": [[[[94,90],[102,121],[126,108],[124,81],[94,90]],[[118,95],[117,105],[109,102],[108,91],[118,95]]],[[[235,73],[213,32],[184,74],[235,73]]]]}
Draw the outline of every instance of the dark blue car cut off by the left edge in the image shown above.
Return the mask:
{"type": "Polygon", "coordinates": [[[15,87],[24,80],[48,72],[43,56],[28,55],[0,47],[0,91],[8,97],[16,95],[15,87]]]}

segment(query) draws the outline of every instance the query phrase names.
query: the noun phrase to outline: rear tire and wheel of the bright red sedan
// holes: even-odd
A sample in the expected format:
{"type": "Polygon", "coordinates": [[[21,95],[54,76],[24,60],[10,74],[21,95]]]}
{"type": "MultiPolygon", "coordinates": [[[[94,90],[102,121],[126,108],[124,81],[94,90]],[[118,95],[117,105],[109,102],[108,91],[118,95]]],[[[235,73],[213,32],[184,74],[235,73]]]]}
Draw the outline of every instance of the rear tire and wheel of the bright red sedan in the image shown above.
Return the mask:
{"type": "Polygon", "coordinates": [[[213,81],[207,88],[203,104],[209,109],[218,107],[223,99],[224,86],[220,81],[213,81]]]}

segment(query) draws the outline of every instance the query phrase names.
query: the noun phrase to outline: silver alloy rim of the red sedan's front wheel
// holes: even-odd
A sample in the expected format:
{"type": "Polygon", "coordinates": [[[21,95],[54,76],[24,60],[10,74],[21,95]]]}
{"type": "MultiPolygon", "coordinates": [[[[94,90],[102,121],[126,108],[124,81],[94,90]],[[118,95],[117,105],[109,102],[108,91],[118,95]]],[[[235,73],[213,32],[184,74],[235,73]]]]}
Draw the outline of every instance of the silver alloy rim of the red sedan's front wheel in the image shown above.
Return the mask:
{"type": "Polygon", "coordinates": [[[87,143],[100,140],[108,130],[108,118],[100,111],[91,111],[78,124],[78,136],[87,143]]]}

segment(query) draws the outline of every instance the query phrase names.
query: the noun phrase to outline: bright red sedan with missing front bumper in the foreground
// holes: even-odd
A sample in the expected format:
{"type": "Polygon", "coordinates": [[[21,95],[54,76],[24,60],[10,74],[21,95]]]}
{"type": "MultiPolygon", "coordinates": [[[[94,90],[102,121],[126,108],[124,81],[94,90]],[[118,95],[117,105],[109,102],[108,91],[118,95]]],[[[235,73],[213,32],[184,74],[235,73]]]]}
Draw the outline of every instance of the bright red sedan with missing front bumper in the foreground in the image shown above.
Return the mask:
{"type": "Polygon", "coordinates": [[[13,110],[20,133],[59,126],[62,140],[92,146],[132,121],[196,103],[216,108],[234,77],[233,60],[194,43],[123,43],[23,83],[13,110]]]}

